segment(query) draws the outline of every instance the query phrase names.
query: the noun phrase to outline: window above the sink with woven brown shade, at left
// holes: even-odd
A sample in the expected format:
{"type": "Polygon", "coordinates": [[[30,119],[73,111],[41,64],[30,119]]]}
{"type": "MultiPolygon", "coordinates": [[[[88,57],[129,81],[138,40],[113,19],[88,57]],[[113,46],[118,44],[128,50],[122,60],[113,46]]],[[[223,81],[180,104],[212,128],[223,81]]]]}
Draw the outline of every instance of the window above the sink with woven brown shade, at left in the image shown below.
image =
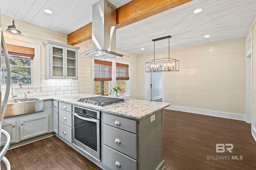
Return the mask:
{"type": "MultiPolygon", "coordinates": [[[[31,65],[34,59],[34,49],[18,45],[6,44],[11,65],[11,81],[21,84],[31,84],[31,65]]],[[[6,84],[6,64],[1,54],[2,75],[1,84],[6,84]]],[[[18,84],[14,82],[14,84],[18,84]]]]}

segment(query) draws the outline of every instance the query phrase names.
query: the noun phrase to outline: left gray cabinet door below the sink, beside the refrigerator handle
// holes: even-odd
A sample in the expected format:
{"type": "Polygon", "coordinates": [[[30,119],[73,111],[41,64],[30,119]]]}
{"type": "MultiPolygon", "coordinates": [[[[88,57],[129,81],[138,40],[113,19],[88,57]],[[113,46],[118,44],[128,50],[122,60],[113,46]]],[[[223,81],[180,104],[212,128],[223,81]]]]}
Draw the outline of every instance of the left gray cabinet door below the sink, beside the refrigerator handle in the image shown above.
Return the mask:
{"type": "MultiPolygon", "coordinates": [[[[7,123],[2,124],[2,129],[7,131],[10,134],[10,143],[15,143],[15,132],[16,132],[16,121],[11,121],[7,123]]],[[[6,137],[1,134],[1,146],[5,145],[6,143],[6,137]]]]}

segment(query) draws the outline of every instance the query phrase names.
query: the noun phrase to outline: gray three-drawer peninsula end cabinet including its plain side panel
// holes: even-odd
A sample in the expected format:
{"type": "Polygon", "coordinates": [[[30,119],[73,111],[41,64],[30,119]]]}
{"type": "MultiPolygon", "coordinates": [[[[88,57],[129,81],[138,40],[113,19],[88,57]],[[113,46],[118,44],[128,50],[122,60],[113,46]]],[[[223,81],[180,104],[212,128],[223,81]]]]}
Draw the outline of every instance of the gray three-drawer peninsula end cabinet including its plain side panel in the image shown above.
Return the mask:
{"type": "Polygon", "coordinates": [[[162,170],[162,111],[143,119],[101,114],[102,163],[111,170],[162,170]]]}

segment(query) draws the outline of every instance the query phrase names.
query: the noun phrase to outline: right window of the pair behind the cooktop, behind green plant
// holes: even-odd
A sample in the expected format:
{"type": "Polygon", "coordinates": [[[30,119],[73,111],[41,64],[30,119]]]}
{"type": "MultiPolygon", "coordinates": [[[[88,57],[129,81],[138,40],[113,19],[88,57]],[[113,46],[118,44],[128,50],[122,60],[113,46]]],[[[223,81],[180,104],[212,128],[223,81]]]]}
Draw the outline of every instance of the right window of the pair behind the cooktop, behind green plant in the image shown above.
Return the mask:
{"type": "Polygon", "coordinates": [[[116,84],[125,90],[120,92],[121,96],[129,94],[129,79],[129,65],[116,63],[116,84]]]}

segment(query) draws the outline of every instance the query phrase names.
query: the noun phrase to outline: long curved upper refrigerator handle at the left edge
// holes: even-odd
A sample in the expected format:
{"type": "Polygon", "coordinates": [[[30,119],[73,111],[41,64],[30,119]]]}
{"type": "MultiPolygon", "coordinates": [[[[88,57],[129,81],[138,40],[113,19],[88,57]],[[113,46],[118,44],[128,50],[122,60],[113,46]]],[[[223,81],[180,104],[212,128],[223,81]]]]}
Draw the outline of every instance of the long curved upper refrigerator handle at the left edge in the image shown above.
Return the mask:
{"type": "Polygon", "coordinates": [[[10,86],[11,86],[11,66],[10,66],[10,60],[9,60],[9,54],[7,51],[6,43],[4,40],[4,33],[2,32],[2,49],[4,53],[4,59],[6,63],[6,71],[7,71],[7,78],[6,78],[6,90],[5,90],[5,95],[4,95],[4,102],[2,104],[2,115],[1,115],[1,122],[3,122],[4,119],[4,113],[7,107],[8,99],[9,99],[9,94],[10,94],[10,86]]]}

